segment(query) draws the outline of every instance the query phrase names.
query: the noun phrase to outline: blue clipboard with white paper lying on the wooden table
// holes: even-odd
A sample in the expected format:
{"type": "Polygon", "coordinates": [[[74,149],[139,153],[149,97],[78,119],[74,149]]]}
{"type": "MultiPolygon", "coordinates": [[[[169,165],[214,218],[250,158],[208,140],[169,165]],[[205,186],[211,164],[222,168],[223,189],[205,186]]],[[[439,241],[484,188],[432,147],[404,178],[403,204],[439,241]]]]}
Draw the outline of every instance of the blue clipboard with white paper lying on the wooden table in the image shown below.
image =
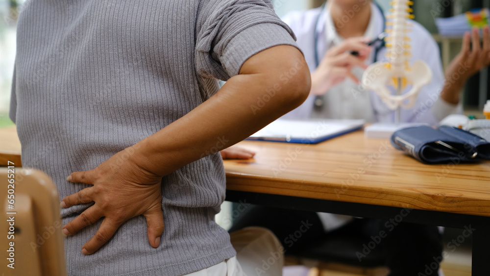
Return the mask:
{"type": "Polygon", "coordinates": [[[317,144],[334,137],[361,129],[364,120],[284,120],[278,119],[247,140],[317,144]]]}

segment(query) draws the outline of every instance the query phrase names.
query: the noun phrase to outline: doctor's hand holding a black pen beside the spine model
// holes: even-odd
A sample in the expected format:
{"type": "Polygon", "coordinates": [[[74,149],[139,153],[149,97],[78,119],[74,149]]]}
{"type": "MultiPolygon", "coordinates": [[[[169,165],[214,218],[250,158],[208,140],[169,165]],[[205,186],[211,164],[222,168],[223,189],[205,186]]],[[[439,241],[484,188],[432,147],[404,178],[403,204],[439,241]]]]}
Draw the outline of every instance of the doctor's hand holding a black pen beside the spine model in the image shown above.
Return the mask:
{"type": "Polygon", "coordinates": [[[328,50],[321,60],[318,68],[311,74],[311,95],[323,95],[330,88],[350,78],[355,83],[360,80],[352,74],[352,68],[359,66],[366,69],[365,60],[369,57],[370,47],[366,45],[370,39],[356,37],[344,40],[341,44],[328,50]],[[351,51],[359,52],[358,56],[351,51]]]}

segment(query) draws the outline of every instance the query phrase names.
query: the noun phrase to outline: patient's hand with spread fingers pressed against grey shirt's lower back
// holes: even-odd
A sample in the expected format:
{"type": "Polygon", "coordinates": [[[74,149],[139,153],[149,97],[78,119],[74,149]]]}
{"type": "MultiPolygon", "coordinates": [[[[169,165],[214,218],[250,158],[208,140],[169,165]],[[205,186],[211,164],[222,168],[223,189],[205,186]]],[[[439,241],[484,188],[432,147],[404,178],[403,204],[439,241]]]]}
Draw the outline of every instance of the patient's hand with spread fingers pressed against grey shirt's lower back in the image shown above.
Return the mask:
{"type": "MultiPolygon", "coordinates": [[[[133,146],[134,147],[134,146],[133,146]]],[[[92,254],[103,246],[127,220],[144,215],[150,245],[157,248],[163,233],[161,181],[157,176],[133,160],[134,148],[116,153],[97,168],[74,172],[67,180],[92,185],[78,193],[65,197],[61,207],[76,204],[95,204],[65,226],[66,235],[76,234],[84,227],[104,218],[97,233],[82,247],[83,254],[92,254]]]]}

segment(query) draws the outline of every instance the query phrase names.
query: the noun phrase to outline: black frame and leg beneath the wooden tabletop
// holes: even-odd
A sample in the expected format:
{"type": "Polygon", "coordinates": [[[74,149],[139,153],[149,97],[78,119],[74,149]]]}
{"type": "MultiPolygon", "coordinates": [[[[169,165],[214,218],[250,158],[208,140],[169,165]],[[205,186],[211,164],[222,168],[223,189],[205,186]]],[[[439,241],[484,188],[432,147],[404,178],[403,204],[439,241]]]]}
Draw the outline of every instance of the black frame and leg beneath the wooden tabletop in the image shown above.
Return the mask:
{"type": "MultiPolygon", "coordinates": [[[[256,205],[335,213],[363,218],[389,220],[402,213],[403,208],[344,201],[319,200],[273,194],[226,191],[226,201],[247,202],[256,205]]],[[[405,212],[406,213],[406,212],[405,212]]],[[[472,276],[490,275],[490,217],[464,215],[428,210],[410,210],[404,222],[424,225],[475,229],[472,243],[472,276]]]]}

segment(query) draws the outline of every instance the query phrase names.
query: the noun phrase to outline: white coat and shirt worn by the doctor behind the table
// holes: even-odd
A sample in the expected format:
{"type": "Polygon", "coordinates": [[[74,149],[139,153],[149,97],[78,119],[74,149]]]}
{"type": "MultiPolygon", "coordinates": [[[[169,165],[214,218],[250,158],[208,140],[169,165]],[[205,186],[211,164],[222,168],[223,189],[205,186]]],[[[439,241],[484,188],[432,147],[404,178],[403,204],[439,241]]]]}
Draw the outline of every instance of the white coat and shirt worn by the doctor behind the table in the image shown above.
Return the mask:
{"type": "MultiPolygon", "coordinates": [[[[373,3],[370,4],[371,19],[365,36],[374,39],[384,31],[385,26],[383,25],[383,15],[379,8],[373,3]]],[[[313,47],[317,47],[321,61],[329,48],[342,42],[342,38],[339,37],[333,25],[328,5],[325,6],[324,12],[321,12],[321,7],[308,11],[292,12],[286,15],[283,21],[296,34],[297,44],[303,51],[310,72],[316,69],[315,50],[313,47]],[[318,45],[316,46],[314,45],[315,34],[318,35],[318,45]]],[[[413,25],[411,27],[412,31],[408,34],[412,44],[410,64],[419,59],[425,61],[431,68],[433,77],[431,83],[421,89],[414,108],[401,110],[400,121],[437,125],[447,115],[462,113],[463,108],[461,104],[454,105],[440,99],[439,95],[444,84],[444,74],[439,47],[431,34],[422,25],[412,20],[410,20],[410,24],[413,25]]],[[[386,53],[386,48],[381,49],[378,52],[377,60],[388,61],[386,53]]],[[[374,50],[371,51],[371,56],[368,58],[367,63],[370,64],[373,60],[374,50]]],[[[361,79],[362,73],[363,70],[359,67],[353,70],[353,74],[357,75],[359,79],[361,79]]],[[[364,88],[359,87],[350,79],[345,79],[324,95],[321,111],[314,110],[314,100],[315,96],[308,97],[302,105],[284,115],[283,118],[366,119],[368,122],[394,122],[395,112],[389,110],[377,94],[364,90],[364,88]]],[[[352,219],[350,216],[327,213],[319,213],[319,218],[325,231],[343,226],[352,219]]]]}

